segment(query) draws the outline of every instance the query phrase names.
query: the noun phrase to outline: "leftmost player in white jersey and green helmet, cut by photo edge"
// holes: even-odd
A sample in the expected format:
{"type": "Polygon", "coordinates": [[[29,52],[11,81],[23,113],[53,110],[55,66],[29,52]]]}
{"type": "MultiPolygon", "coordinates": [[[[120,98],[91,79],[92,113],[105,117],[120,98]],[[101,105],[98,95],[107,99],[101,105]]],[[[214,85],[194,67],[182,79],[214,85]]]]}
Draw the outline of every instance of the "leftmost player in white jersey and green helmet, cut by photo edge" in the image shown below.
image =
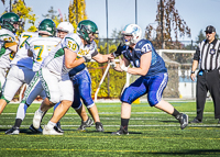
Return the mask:
{"type": "MultiPolygon", "coordinates": [[[[20,18],[13,12],[4,13],[0,18],[0,94],[1,88],[4,85],[7,71],[10,68],[10,61],[13,58],[13,53],[16,52],[16,35],[20,18]]],[[[0,108],[0,113],[3,109],[0,108]]]]}

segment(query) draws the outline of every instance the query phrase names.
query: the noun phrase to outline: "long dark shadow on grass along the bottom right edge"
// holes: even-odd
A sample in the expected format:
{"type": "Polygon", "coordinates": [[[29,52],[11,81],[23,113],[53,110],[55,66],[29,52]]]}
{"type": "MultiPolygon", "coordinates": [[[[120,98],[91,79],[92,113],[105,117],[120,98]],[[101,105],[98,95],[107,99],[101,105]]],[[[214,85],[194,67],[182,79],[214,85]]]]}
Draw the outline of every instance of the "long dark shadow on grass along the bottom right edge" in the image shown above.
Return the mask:
{"type": "Polygon", "coordinates": [[[191,149],[191,150],[182,150],[182,152],[156,152],[156,153],[135,153],[135,155],[152,155],[152,156],[160,156],[160,155],[166,155],[166,156],[172,156],[172,155],[178,155],[178,156],[184,156],[184,155],[220,155],[220,149],[191,149]]]}

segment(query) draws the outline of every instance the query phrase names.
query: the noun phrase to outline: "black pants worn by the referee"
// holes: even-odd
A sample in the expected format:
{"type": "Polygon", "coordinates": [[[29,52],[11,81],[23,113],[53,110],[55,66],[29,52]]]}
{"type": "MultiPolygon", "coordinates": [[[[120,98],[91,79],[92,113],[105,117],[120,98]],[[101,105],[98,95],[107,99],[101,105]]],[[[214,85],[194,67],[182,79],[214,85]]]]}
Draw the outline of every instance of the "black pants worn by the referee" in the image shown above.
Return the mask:
{"type": "Polygon", "coordinates": [[[202,121],[204,108],[206,103],[207,92],[210,92],[215,105],[215,119],[220,119],[220,74],[219,70],[202,71],[197,74],[197,116],[202,121]]]}

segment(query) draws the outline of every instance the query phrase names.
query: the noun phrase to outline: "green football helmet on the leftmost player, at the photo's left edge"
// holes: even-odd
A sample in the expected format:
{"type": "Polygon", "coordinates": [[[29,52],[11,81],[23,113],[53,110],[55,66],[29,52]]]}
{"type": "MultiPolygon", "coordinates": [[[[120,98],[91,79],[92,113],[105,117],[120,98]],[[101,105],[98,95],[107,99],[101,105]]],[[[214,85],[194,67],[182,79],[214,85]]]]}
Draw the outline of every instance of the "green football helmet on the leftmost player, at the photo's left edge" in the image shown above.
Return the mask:
{"type": "Polygon", "coordinates": [[[19,24],[20,22],[20,16],[13,12],[7,12],[0,18],[1,27],[7,29],[13,33],[16,33],[16,27],[14,27],[13,24],[19,24]]]}

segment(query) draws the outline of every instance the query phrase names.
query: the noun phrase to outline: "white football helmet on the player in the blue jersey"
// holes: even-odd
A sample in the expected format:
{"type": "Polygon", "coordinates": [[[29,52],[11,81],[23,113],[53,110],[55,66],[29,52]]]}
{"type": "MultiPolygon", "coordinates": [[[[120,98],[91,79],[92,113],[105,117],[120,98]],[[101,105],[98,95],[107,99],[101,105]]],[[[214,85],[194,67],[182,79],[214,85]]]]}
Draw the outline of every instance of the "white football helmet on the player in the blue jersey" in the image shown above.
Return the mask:
{"type": "Polygon", "coordinates": [[[121,34],[123,35],[123,37],[122,37],[123,44],[125,44],[128,46],[132,45],[132,44],[136,44],[142,38],[142,30],[136,24],[128,24],[123,29],[121,34]],[[124,35],[131,35],[133,37],[131,40],[125,40],[124,35]]]}

